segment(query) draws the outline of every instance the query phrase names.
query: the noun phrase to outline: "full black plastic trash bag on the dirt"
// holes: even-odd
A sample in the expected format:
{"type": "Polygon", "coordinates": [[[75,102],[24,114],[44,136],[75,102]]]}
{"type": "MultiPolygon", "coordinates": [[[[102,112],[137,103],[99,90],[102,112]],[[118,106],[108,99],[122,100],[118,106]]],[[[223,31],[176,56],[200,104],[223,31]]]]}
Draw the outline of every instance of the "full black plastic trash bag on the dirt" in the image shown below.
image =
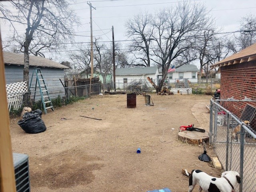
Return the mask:
{"type": "Polygon", "coordinates": [[[22,120],[18,121],[18,125],[26,133],[41,133],[46,130],[46,126],[41,118],[42,111],[40,109],[32,112],[26,112],[22,116],[22,120]]]}

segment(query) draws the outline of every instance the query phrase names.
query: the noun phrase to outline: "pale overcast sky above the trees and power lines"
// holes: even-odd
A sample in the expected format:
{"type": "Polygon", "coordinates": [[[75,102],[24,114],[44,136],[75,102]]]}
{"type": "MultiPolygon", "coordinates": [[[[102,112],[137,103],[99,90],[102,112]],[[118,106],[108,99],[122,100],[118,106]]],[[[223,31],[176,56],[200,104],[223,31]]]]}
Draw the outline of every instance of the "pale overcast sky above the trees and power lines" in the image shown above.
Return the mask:
{"type": "MultiPolygon", "coordinates": [[[[154,14],[155,10],[175,6],[178,1],[92,0],[90,2],[96,8],[92,11],[93,35],[95,37],[101,36],[102,41],[112,41],[111,28],[114,26],[115,40],[122,41],[127,39],[124,24],[128,18],[145,10],[154,14]]],[[[216,25],[219,28],[222,27],[222,32],[239,30],[241,18],[256,12],[256,0],[194,0],[193,2],[205,4],[212,16],[216,18],[216,25]]],[[[71,6],[82,23],[82,26],[75,28],[76,34],[81,35],[76,38],[76,42],[90,42],[90,8],[87,1],[77,0],[71,6]]],[[[8,30],[4,26],[1,27],[2,37],[10,33],[8,30]]],[[[122,42],[122,44],[125,44],[125,42],[122,42]]]]}

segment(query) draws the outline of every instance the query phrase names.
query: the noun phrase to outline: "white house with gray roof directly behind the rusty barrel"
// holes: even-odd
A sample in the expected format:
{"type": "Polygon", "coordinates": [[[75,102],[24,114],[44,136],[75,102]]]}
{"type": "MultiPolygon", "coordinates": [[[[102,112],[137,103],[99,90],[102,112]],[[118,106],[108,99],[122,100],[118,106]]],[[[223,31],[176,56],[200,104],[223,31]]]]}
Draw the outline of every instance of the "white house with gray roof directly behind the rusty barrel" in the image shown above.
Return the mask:
{"type": "Polygon", "coordinates": [[[116,88],[122,87],[130,82],[148,82],[147,77],[156,80],[159,71],[157,67],[143,68],[117,68],[116,69],[116,88]]]}

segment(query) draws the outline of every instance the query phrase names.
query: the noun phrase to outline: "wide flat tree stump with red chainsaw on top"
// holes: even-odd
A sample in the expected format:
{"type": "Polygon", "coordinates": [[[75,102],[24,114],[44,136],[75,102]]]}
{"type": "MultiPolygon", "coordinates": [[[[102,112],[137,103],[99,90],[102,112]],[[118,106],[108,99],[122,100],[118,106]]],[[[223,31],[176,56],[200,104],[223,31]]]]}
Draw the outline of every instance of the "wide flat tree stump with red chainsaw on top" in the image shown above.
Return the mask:
{"type": "Polygon", "coordinates": [[[178,133],[178,138],[189,144],[201,144],[203,141],[209,141],[209,133],[206,131],[204,133],[198,131],[181,131],[178,133]]]}

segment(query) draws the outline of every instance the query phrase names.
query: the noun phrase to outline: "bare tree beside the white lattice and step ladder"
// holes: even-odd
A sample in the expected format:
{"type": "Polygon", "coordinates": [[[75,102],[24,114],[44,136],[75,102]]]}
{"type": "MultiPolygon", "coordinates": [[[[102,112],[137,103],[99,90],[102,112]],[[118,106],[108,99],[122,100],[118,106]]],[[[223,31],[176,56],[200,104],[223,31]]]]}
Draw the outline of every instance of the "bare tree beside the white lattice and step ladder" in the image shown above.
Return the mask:
{"type": "MultiPolygon", "coordinates": [[[[23,75],[28,85],[29,54],[44,56],[43,50],[56,49],[62,42],[72,40],[73,25],[78,20],[66,0],[10,0],[0,6],[3,14],[0,18],[13,26],[14,39],[24,52],[23,75]],[[25,28],[25,34],[18,33],[16,24],[25,28]]],[[[23,100],[28,104],[28,94],[23,100]]]]}

